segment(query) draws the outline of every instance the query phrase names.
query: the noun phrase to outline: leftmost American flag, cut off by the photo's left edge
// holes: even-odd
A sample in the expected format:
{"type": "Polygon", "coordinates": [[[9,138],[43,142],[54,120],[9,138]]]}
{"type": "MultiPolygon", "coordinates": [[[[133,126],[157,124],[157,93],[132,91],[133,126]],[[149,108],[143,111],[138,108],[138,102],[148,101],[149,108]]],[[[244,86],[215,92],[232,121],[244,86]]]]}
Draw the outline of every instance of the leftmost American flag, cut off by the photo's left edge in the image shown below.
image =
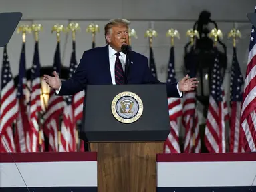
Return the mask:
{"type": "Polygon", "coordinates": [[[11,73],[7,47],[3,49],[0,95],[0,152],[15,152],[13,121],[18,116],[17,90],[11,73]]]}

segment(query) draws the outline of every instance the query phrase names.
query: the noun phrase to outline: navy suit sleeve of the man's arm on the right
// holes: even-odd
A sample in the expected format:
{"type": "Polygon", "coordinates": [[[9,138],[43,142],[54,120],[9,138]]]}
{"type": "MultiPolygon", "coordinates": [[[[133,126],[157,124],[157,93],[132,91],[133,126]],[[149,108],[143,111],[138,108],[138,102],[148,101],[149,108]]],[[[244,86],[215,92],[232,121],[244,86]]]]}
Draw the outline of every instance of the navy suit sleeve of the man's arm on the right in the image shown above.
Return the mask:
{"type": "Polygon", "coordinates": [[[162,83],[156,77],[153,76],[152,72],[150,71],[148,67],[148,58],[144,57],[144,83],[146,84],[165,84],[166,85],[166,91],[167,91],[167,97],[176,97],[180,98],[183,97],[182,92],[178,90],[178,82],[175,83],[162,83]]]}

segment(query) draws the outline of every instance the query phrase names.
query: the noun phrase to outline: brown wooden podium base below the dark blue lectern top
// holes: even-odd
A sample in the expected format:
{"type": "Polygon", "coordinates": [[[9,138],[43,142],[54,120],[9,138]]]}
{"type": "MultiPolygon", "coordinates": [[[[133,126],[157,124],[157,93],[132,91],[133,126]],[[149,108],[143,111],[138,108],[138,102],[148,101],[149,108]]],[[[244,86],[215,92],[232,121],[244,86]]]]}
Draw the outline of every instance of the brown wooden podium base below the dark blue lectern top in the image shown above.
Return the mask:
{"type": "Polygon", "coordinates": [[[158,143],[90,143],[98,152],[99,192],[156,192],[158,143]]]}

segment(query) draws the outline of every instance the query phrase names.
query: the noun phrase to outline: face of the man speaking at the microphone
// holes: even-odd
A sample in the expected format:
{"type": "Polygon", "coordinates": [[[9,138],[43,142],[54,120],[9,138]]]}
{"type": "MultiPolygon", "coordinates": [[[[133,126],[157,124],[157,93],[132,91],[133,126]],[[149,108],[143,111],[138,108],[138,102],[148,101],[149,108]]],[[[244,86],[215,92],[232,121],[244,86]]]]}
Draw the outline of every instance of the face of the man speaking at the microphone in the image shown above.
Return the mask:
{"type": "Polygon", "coordinates": [[[128,28],[123,25],[113,26],[112,33],[108,38],[108,43],[110,43],[111,47],[116,51],[121,51],[122,45],[129,44],[129,34],[128,28]]]}

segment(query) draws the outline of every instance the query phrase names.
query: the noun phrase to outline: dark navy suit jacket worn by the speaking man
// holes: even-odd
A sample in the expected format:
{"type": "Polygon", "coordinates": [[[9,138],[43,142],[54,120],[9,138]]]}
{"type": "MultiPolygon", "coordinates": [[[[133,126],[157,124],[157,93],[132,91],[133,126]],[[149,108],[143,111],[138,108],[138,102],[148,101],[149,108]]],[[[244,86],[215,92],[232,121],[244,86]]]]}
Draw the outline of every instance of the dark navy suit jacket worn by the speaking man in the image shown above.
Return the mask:
{"type": "MultiPolygon", "coordinates": [[[[147,57],[134,51],[130,51],[129,54],[128,84],[161,83],[152,75],[148,67],[147,57]]],[[[168,97],[180,97],[177,83],[166,83],[168,97]]],[[[86,85],[106,84],[112,85],[108,45],[84,51],[76,72],[70,79],[62,81],[61,89],[56,95],[74,95],[82,90],[86,90],[86,85]]]]}

